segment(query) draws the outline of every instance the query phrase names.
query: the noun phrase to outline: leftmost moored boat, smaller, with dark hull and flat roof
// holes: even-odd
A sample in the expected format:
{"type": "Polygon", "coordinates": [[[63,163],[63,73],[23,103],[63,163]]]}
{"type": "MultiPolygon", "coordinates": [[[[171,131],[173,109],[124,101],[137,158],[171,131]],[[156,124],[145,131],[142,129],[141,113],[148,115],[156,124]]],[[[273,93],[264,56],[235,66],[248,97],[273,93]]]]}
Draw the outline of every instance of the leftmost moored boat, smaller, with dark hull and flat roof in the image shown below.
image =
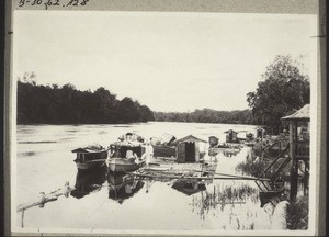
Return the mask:
{"type": "Polygon", "coordinates": [[[77,158],[75,159],[77,168],[89,170],[104,166],[109,149],[97,144],[83,148],[79,147],[71,151],[77,154],[77,158]]]}

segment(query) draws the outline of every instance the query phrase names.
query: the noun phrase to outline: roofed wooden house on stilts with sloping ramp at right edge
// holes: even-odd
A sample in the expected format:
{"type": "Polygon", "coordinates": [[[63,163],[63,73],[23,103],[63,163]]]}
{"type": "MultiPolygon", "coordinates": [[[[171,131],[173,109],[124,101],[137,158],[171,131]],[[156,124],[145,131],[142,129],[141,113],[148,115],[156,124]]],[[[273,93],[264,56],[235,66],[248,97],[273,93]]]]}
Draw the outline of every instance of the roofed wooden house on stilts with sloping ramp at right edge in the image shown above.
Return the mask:
{"type": "MultiPolygon", "coordinates": [[[[303,188],[304,195],[309,190],[309,104],[292,115],[282,117],[290,125],[290,139],[284,149],[272,160],[259,178],[269,177],[268,181],[256,180],[260,188],[261,203],[271,198],[281,195],[285,187],[282,187],[280,177],[290,165],[290,200],[297,196],[298,187],[303,188]],[[302,176],[299,176],[302,174],[302,176]]],[[[280,142],[280,140],[279,140],[280,142]]],[[[281,142],[280,142],[281,143],[281,142]]],[[[262,204],[261,204],[262,205],[262,204]]]]}

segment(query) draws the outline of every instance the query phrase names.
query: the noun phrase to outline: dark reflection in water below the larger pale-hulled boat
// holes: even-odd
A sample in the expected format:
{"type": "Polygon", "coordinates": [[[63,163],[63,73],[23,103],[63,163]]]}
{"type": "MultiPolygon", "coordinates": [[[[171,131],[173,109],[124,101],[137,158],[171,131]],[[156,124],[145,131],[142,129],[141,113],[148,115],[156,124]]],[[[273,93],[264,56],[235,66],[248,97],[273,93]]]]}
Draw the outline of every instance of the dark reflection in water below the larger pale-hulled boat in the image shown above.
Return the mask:
{"type": "Polygon", "coordinates": [[[144,182],[134,174],[107,173],[109,199],[122,204],[126,199],[134,196],[143,187],[144,182]]]}

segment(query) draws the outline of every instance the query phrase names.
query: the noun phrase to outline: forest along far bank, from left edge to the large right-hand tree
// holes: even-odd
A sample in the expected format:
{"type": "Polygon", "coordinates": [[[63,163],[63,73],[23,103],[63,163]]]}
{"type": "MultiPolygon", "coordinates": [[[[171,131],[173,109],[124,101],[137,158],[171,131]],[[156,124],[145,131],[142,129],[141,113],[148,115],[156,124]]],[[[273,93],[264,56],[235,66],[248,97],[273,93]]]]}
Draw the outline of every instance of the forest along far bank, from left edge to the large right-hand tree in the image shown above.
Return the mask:
{"type": "Polygon", "coordinates": [[[18,124],[115,124],[133,122],[195,122],[254,124],[250,110],[152,112],[132,98],[117,100],[101,87],[80,91],[72,84],[42,86],[34,80],[18,81],[18,124]]]}

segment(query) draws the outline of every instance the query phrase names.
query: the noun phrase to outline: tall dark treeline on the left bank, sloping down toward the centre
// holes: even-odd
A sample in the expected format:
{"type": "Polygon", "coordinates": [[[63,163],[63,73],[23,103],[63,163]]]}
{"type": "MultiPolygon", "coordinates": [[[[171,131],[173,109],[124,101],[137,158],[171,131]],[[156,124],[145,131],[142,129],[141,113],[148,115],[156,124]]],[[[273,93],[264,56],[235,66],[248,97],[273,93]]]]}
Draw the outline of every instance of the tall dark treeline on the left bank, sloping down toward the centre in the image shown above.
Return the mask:
{"type": "Polygon", "coordinates": [[[111,124],[154,121],[146,105],[132,98],[117,100],[101,87],[94,92],[72,84],[38,86],[18,81],[18,124],[111,124]]]}

